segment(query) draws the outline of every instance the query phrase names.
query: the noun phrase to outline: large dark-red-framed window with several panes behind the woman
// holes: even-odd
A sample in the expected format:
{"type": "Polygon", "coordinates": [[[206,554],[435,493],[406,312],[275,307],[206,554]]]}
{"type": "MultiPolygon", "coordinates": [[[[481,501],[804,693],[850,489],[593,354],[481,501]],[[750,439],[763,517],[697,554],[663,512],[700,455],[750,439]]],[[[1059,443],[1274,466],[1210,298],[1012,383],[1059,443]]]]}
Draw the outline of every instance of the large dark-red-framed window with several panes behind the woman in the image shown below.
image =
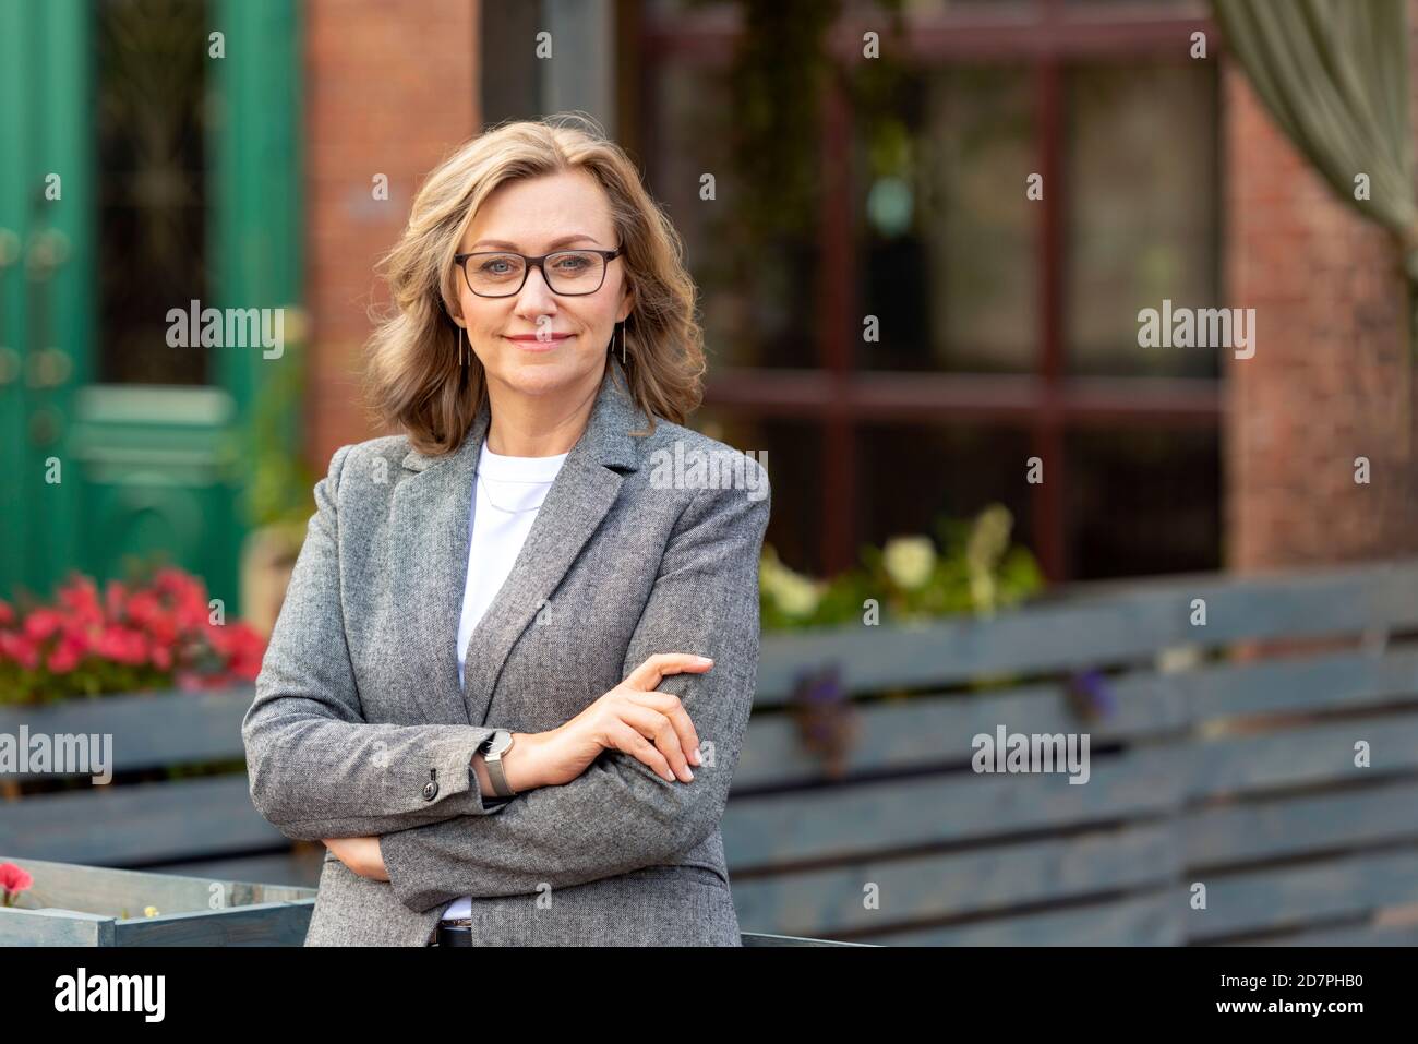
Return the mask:
{"type": "Polygon", "coordinates": [[[1141,308],[1221,289],[1205,11],[908,0],[898,40],[869,0],[842,10],[822,89],[774,102],[813,130],[783,170],[813,220],[771,234],[739,213],[761,190],[733,159],[739,6],[635,20],[632,142],[700,288],[710,434],[769,450],[767,539],[831,573],[1003,502],[1052,580],[1218,567],[1218,356],[1137,345],[1141,308]]]}

